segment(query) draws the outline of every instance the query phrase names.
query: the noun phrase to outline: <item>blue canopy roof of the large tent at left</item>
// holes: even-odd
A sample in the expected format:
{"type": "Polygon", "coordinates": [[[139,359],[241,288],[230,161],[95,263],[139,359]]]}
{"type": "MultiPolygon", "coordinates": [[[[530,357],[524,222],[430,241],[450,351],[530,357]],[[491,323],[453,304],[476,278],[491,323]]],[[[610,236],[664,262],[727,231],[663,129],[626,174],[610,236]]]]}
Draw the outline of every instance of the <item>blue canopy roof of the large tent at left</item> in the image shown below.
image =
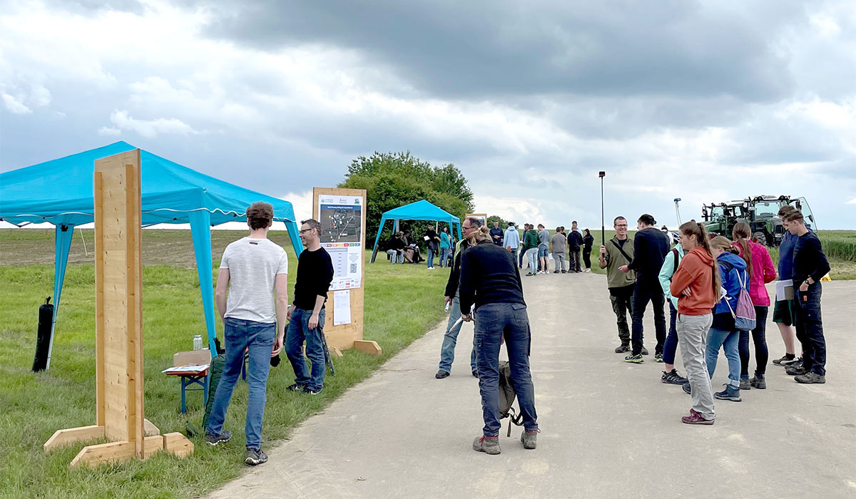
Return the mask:
{"type": "MultiPolygon", "coordinates": [[[[80,225],[93,221],[95,160],[136,147],[116,142],[0,174],[0,220],[9,223],[80,225]]],[[[190,213],[208,211],[211,224],[246,220],[247,206],[267,201],[274,219],[294,222],[288,201],[238,187],[181,164],[140,151],[142,223],[189,223],[190,213]]]]}

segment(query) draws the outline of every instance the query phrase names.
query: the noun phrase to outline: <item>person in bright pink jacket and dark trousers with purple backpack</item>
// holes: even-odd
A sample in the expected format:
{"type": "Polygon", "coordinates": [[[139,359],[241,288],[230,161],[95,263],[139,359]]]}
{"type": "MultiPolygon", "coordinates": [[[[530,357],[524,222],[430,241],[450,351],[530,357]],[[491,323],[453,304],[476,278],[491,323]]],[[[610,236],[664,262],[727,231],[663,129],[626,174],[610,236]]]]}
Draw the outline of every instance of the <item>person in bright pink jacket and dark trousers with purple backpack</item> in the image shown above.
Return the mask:
{"type": "Polygon", "coordinates": [[[770,252],[763,245],[752,242],[752,229],[748,223],[734,225],[734,246],[740,258],[746,261],[749,270],[749,296],[755,306],[756,325],[752,330],[752,342],[755,343],[755,376],[749,379],[749,331],[740,331],[740,389],[765,389],[767,382],[764,373],[767,370],[767,340],[764,337],[767,324],[767,312],[770,308],[770,295],[764,286],[776,280],[776,266],[770,252]]]}

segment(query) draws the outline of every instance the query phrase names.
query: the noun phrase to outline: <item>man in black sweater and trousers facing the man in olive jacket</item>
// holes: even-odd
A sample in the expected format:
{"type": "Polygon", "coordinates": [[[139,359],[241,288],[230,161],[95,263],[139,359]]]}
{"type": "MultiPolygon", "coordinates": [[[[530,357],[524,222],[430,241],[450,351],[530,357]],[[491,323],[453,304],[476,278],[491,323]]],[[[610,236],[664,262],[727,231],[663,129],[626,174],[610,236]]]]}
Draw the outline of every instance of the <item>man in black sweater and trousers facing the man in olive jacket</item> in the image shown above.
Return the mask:
{"type": "Polygon", "coordinates": [[[654,306],[654,329],[657,332],[657,348],[654,351],[654,361],[663,362],[663,343],[666,342],[666,312],[663,309],[666,297],[660,286],[660,269],[666,253],[669,252],[669,237],[656,227],[657,220],[647,213],[639,217],[637,228],[639,232],[633,237],[633,261],[621,265],[622,272],[636,271],[636,284],[633,288],[633,352],[624,358],[626,362],[641,364],[642,355],[648,350],[642,344],[642,318],[645,317],[645,307],[648,302],[654,306]]]}

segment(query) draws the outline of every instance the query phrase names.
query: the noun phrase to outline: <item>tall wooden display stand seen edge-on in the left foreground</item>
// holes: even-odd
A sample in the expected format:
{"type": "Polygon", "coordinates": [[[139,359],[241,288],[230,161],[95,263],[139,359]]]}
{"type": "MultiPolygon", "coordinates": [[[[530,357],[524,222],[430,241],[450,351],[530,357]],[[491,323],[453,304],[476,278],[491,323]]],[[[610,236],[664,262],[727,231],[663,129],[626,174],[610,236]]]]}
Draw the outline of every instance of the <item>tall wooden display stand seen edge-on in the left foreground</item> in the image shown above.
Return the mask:
{"type": "Polygon", "coordinates": [[[181,433],[160,435],[143,416],[140,150],[95,162],[96,425],[59,430],[45,453],[69,443],[89,445],[71,466],[145,459],[158,450],[193,453],[181,433]]]}

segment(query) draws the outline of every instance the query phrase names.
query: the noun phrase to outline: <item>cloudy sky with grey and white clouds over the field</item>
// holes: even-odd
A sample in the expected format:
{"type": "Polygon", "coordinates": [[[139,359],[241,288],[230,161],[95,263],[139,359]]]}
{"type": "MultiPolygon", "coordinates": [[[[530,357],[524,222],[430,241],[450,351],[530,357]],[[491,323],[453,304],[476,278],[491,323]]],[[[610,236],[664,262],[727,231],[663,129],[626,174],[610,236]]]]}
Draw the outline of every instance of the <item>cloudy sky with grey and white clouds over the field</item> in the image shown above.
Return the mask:
{"type": "Polygon", "coordinates": [[[409,150],[518,222],[598,226],[603,169],[608,219],[856,229],[852,0],[0,0],[0,101],[0,171],[125,140],[298,217],[409,150]]]}

